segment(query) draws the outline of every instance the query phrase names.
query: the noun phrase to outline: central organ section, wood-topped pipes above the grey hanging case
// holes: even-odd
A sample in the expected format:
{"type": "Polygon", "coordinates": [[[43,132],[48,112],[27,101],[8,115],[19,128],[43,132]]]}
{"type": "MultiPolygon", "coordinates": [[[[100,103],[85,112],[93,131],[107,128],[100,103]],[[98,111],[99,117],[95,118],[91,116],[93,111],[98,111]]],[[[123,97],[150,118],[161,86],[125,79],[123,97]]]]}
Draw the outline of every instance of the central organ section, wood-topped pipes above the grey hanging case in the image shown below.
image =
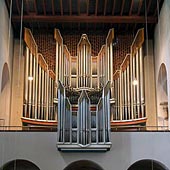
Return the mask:
{"type": "MultiPolygon", "coordinates": [[[[77,56],[70,56],[64,45],[64,53],[59,56],[65,78],[58,81],[58,143],[65,150],[109,150],[110,143],[110,81],[112,67],[111,29],[98,56],[91,56],[91,44],[83,34],[77,45],[77,56]],[[109,53],[106,53],[106,47],[109,53]],[[106,55],[108,54],[108,56],[106,55]],[[101,67],[102,66],[102,67],[101,67]],[[108,68],[108,69],[106,69],[108,68]],[[100,83],[101,81],[101,83],[100,83]]],[[[62,42],[58,30],[55,30],[56,44],[62,42]]],[[[61,44],[61,46],[63,46],[61,44]]],[[[58,45],[56,45],[58,54],[58,45]]],[[[57,63],[57,66],[58,65],[57,63]]],[[[57,77],[57,76],[56,76],[57,77]]]]}

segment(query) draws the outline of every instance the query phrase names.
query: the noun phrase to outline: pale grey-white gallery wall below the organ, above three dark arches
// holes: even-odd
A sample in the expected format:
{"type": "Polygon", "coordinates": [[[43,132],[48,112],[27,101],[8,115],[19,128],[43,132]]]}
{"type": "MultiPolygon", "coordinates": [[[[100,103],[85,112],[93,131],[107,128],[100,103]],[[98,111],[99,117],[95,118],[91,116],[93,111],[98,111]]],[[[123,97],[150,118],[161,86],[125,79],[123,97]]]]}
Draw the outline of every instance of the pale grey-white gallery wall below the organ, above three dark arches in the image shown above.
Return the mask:
{"type": "Polygon", "coordinates": [[[26,159],[41,170],[63,170],[77,160],[91,160],[104,170],[127,170],[138,160],[152,159],[170,169],[169,132],[114,132],[108,152],[59,152],[56,132],[1,132],[0,167],[26,159]]]}

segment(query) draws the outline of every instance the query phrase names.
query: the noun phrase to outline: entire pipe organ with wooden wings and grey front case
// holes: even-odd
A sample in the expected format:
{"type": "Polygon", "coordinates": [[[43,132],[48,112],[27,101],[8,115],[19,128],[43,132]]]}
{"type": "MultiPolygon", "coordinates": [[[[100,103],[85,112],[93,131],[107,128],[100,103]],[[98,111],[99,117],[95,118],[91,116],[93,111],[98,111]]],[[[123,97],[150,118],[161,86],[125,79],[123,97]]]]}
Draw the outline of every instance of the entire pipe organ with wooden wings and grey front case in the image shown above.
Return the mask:
{"type": "Polygon", "coordinates": [[[23,125],[57,126],[61,151],[107,151],[111,128],[145,125],[144,29],[138,30],[116,70],[113,28],[97,56],[92,56],[87,34],[81,35],[76,56],[58,29],[54,39],[51,70],[31,31],[24,30],[23,125]]]}

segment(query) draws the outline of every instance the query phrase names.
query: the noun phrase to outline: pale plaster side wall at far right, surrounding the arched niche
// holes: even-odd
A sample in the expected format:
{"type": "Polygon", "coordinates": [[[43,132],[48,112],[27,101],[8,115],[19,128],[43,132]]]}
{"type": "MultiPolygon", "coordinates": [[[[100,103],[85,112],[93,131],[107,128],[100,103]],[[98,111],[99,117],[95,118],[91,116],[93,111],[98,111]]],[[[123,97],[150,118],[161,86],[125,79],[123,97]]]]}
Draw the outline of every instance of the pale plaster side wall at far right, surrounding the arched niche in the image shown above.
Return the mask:
{"type": "MultiPolygon", "coordinates": [[[[167,83],[170,84],[170,0],[165,0],[161,9],[158,24],[155,28],[155,79],[156,79],[156,92],[157,92],[157,115],[161,117],[160,101],[163,100],[160,88],[158,86],[159,69],[162,63],[165,64],[167,69],[167,83]]],[[[170,101],[170,87],[168,87],[168,101],[170,101]]],[[[170,102],[168,102],[168,108],[170,110],[170,102]]],[[[170,117],[170,115],[169,115],[170,117]]],[[[170,119],[169,127],[170,127],[170,119]]],[[[158,125],[162,125],[163,122],[158,121],[158,125]]]]}

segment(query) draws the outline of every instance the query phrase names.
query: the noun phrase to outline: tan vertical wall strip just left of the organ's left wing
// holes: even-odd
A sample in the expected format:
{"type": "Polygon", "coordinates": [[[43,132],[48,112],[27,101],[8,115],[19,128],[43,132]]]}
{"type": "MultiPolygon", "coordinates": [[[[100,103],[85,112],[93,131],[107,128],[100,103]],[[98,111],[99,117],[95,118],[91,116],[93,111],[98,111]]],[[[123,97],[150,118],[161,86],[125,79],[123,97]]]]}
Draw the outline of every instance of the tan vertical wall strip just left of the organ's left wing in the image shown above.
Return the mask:
{"type": "MultiPolygon", "coordinates": [[[[23,49],[23,42],[21,43],[23,49]]],[[[23,91],[24,91],[24,56],[21,51],[20,40],[14,40],[13,54],[13,76],[12,76],[12,93],[11,93],[11,119],[10,126],[22,126],[21,117],[23,114],[23,91]],[[20,69],[18,65],[20,64],[20,69]]]]}

